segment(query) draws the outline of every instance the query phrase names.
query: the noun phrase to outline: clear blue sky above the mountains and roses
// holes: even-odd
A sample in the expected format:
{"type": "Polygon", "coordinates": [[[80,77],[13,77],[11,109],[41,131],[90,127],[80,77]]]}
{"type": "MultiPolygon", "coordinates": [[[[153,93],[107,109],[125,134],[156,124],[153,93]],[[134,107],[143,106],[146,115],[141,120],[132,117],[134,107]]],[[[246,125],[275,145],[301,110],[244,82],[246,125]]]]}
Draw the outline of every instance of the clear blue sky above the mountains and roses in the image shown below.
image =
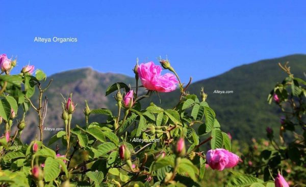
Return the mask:
{"type": "Polygon", "coordinates": [[[265,58],[306,53],[305,1],[5,1],[0,53],[47,75],[92,67],[133,76],[168,58],[184,82],[265,58]],[[77,43],[36,43],[72,37],[77,43]]]}

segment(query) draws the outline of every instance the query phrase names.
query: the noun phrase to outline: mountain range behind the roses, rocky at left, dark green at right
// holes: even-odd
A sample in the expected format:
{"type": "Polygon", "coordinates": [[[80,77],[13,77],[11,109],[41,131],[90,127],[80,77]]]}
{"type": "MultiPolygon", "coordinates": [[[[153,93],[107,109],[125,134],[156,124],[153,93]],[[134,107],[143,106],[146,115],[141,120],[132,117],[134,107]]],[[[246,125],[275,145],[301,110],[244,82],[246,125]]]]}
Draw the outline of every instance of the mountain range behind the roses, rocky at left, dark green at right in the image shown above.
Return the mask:
{"type": "MultiPolygon", "coordinates": [[[[286,73],[277,66],[277,63],[286,61],[290,62],[289,66],[295,76],[304,76],[306,55],[295,54],[236,67],[216,77],[197,81],[191,84],[188,90],[199,95],[201,87],[204,87],[208,93],[207,102],[215,110],[223,131],[230,132],[234,138],[250,140],[252,137],[264,137],[267,126],[278,127],[280,111],[275,105],[269,105],[266,100],[276,82],[281,82],[286,77],[286,73]],[[214,93],[215,90],[233,90],[233,93],[214,93]]],[[[64,127],[60,118],[63,101],[60,93],[67,98],[68,94],[73,92],[73,101],[78,103],[73,114],[74,123],[81,124],[85,99],[88,100],[91,109],[110,108],[115,112],[115,100],[111,96],[105,97],[106,88],[115,82],[125,82],[132,86],[135,84],[134,78],[121,74],[99,73],[90,68],[58,73],[50,76],[48,80],[51,78],[52,85],[46,92],[48,112],[44,122],[44,127],[49,128],[64,127]]],[[[160,98],[161,104],[159,98],[153,96],[142,105],[154,102],[172,108],[179,99],[179,91],[163,93],[160,98]]],[[[28,125],[23,131],[25,140],[29,141],[36,134],[39,135],[36,115],[33,111],[29,112],[26,119],[28,125]]],[[[101,120],[100,116],[96,117],[101,120]]],[[[55,133],[44,131],[44,137],[50,137],[55,133]]]]}

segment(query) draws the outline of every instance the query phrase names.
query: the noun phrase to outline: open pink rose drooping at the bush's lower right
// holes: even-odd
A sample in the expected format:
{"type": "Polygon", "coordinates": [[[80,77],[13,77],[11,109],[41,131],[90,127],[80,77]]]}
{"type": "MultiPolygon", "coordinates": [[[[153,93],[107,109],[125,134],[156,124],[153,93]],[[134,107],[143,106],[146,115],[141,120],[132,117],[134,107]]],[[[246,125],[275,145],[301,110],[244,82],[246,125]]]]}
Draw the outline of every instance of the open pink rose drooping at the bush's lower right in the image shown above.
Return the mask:
{"type": "Polygon", "coordinates": [[[207,152],[206,161],[212,169],[222,171],[224,168],[237,166],[239,157],[232,152],[218,148],[207,152]]]}

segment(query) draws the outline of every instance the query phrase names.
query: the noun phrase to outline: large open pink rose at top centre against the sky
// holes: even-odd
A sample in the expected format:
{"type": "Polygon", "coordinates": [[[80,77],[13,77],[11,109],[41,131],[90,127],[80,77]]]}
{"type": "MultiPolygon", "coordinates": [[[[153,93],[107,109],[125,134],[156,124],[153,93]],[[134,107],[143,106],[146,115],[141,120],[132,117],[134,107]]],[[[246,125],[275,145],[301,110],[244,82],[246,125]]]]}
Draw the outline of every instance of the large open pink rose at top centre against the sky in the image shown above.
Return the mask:
{"type": "Polygon", "coordinates": [[[175,75],[172,73],[161,75],[161,71],[162,68],[155,65],[152,61],[139,65],[137,70],[141,83],[145,88],[159,92],[175,90],[176,84],[179,83],[175,75]]]}

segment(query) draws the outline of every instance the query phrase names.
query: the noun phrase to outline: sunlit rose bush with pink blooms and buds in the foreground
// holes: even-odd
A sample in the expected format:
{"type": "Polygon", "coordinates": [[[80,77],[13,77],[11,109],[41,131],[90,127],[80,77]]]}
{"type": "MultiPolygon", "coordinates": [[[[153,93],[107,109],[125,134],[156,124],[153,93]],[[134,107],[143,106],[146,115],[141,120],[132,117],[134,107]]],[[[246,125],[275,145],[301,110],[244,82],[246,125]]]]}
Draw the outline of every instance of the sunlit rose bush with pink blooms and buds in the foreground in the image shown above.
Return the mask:
{"type": "MultiPolygon", "coordinates": [[[[20,74],[11,75],[15,62],[1,56],[5,73],[0,75],[0,116],[5,124],[0,139],[2,186],[201,186],[208,166],[230,172],[228,186],[274,185],[272,179],[231,169],[239,166],[238,153],[231,152],[231,138],[221,131],[216,113],[206,102],[207,94],[203,89],[200,99],[189,94],[190,82],[184,86],[168,60],[161,59],[160,63],[171,73],[161,75],[162,68],[152,62],[140,64],[134,68],[135,88],[123,82],[108,87],[106,96],[113,94],[117,101],[115,114],[105,108],[90,109],[85,101],[86,122],[71,124],[74,111],[79,110],[71,93],[59,109],[65,131],[50,140],[42,134],[47,111],[43,95],[52,80],[42,84],[46,75],[29,65],[20,74]],[[139,79],[142,86],[138,86],[139,79]],[[140,91],[141,87],[147,92],[140,91]],[[169,92],[176,87],[181,96],[174,108],[164,109],[154,103],[141,106],[141,100],[152,92],[169,92]],[[35,90],[38,98],[33,98],[35,90]],[[30,107],[37,112],[40,135],[28,145],[20,137],[27,129],[24,116],[30,107]],[[92,115],[107,119],[89,123],[92,115]],[[195,124],[199,125],[197,132],[195,124]],[[12,132],[13,126],[17,126],[16,132],[12,132]],[[133,141],[135,138],[145,143],[133,141]],[[57,141],[60,146],[52,147],[57,141]]],[[[281,95],[278,99],[284,101],[281,95]]],[[[288,119],[285,121],[287,127],[288,119]]],[[[277,176],[276,186],[284,185],[284,180],[277,176]]],[[[209,181],[205,185],[210,186],[209,181]]]]}

